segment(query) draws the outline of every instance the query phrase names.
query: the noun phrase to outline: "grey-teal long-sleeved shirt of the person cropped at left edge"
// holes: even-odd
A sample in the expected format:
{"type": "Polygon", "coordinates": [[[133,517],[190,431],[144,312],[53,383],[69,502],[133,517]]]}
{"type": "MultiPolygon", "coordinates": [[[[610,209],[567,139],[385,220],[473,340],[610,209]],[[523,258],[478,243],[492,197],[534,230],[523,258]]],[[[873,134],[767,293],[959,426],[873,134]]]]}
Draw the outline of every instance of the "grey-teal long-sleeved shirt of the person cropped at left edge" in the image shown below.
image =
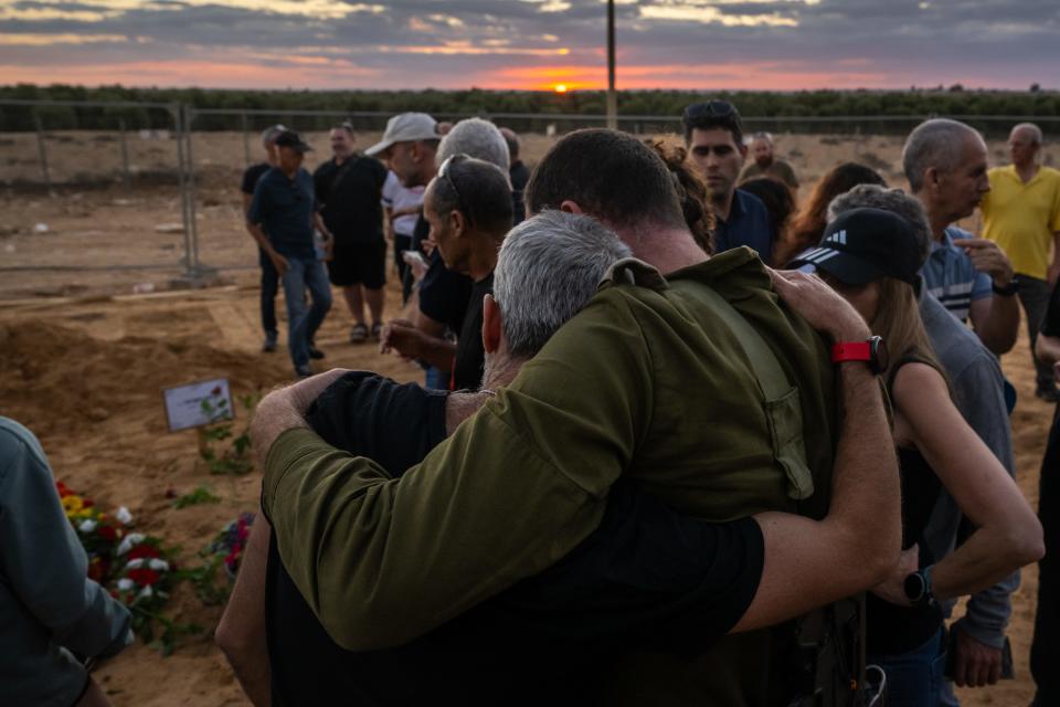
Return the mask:
{"type": "Polygon", "coordinates": [[[0,703],[70,707],[88,680],[74,653],[125,647],[131,616],[87,577],[40,442],[0,418],[0,703]]]}

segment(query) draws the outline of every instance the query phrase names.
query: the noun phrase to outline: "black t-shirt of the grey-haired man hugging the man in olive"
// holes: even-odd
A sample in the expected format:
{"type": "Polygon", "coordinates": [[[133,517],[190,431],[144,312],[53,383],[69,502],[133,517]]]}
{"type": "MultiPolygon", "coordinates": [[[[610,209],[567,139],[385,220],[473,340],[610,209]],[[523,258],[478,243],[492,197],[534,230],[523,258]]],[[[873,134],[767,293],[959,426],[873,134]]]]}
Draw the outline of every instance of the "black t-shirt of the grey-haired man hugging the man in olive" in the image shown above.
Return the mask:
{"type": "MultiPolygon", "coordinates": [[[[447,394],[353,372],[307,420],[329,443],[403,469],[444,439],[447,394]]],[[[595,676],[618,654],[692,656],[732,629],[754,598],[763,559],[753,519],[680,516],[623,479],[600,527],[556,564],[411,643],[352,652],[327,635],[274,541],[266,571],[274,704],[592,703],[595,676]]]]}

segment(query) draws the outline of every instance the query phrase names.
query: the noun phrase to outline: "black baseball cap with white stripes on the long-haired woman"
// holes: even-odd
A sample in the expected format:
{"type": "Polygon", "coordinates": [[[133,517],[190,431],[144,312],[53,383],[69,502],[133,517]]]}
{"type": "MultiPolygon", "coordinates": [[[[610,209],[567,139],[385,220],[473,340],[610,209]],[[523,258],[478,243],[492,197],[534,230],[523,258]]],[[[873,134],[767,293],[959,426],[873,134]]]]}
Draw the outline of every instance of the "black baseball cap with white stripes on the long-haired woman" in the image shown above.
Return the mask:
{"type": "Polygon", "coordinates": [[[791,267],[809,265],[848,285],[888,276],[915,286],[920,247],[912,226],[897,213],[852,209],[829,223],[820,244],[799,253],[791,267]]]}

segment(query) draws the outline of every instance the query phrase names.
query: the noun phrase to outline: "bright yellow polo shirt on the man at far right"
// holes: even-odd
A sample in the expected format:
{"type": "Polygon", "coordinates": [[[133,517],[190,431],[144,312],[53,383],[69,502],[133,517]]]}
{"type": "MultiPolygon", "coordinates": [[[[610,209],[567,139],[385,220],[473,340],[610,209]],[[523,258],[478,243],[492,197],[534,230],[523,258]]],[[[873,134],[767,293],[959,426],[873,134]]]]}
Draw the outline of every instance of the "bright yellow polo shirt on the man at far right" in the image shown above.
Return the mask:
{"type": "Polygon", "coordinates": [[[1046,278],[1049,246],[1060,231],[1060,171],[1038,168],[1024,183],[1013,165],[989,171],[990,191],[983,199],[983,235],[1000,246],[1013,270],[1046,278]]]}

